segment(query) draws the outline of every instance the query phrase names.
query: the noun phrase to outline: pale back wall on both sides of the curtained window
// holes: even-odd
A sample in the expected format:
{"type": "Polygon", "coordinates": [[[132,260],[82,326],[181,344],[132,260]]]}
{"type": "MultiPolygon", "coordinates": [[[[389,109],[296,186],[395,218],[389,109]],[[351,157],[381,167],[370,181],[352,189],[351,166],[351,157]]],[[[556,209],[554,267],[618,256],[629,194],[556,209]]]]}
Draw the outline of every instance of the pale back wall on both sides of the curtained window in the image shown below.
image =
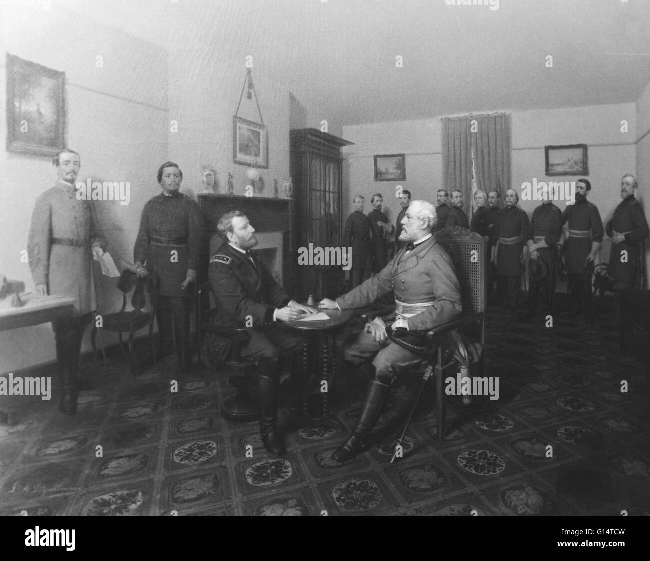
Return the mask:
{"type": "MultiPolygon", "coordinates": [[[[650,94],[647,98],[650,107],[650,94]]],[[[611,218],[620,202],[621,177],[636,170],[634,103],[513,111],[511,123],[513,187],[521,190],[521,184],[532,182],[534,177],[538,181],[547,181],[544,146],[587,144],[590,172],[587,177],[593,187],[590,201],[599,207],[603,222],[611,218]],[[622,120],[627,120],[629,124],[627,134],[621,133],[622,120]]],[[[435,202],[435,192],[443,187],[442,126],[439,117],[343,127],[343,136],[356,143],[356,146],[344,148],[350,177],[348,212],[353,210],[352,199],[357,193],[365,196],[366,212],[369,211],[370,196],[376,192],[383,193],[391,220],[395,220],[400,211],[394,195],[398,183],[374,181],[373,156],[377,154],[406,153],[406,181],[399,182],[399,185],[410,190],[415,199],[435,202]]],[[[552,179],[576,181],[579,177],[552,179]]],[[[529,213],[536,205],[538,203],[534,201],[521,202],[521,207],[529,213]]],[[[560,208],[564,209],[564,206],[564,203],[560,203],[560,208]]]]}

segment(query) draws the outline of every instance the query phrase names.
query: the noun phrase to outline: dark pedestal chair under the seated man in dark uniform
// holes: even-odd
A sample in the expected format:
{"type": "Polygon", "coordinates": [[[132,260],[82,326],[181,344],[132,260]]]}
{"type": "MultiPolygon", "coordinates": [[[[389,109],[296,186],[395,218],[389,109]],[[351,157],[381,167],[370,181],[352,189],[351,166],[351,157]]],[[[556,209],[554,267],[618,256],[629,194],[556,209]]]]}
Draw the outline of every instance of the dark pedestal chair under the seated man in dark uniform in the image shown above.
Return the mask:
{"type": "MultiPolygon", "coordinates": [[[[218,326],[211,322],[211,318],[216,314],[216,305],[209,282],[201,286],[198,304],[199,356],[210,356],[211,350],[206,348],[210,344],[209,337],[206,336],[210,333],[230,340],[230,349],[224,366],[229,371],[235,372],[235,375],[229,378],[228,383],[235,387],[237,392],[234,397],[224,400],[221,409],[222,417],[227,421],[235,421],[235,423],[257,421],[259,413],[250,393],[250,388],[257,384],[256,365],[253,361],[241,358],[242,346],[246,345],[250,339],[248,330],[218,326]]],[[[203,360],[203,363],[210,365],[210,360],[203,360]]]]}

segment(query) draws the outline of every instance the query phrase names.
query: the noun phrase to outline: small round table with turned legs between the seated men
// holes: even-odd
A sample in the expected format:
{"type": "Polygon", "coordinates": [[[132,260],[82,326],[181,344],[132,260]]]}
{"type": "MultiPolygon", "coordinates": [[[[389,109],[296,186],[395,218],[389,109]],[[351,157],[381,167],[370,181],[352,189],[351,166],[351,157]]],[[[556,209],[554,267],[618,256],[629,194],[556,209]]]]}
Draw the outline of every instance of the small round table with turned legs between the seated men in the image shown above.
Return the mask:
{"type": "MultiPolygon", "coordinates": [[[[329,403],[329,387],[328,387],[328,376],[332,376],[332,379],[336,375],[337,371],[337,361],[336,361],[336,343],[339,333],[342,333],[345,329],[346,324],[352,319],[354,310],[352,309],[324,309],[320,310],[322,313],[326,313],[329,320],[318,320],[318,321],[285,321],[285,325],[289,326],[292,329],[296,329],[307,335],[307,333],[313,333],[313,335],[320,335],[322,341],[322,354],[323,354],[323,371],[322,371],[322,382],[325,382],[323,385],[321,382],[321,391],[323,393],[323,410],[322,418],[330,418],[330,403],[329,403]],[[330,350],[331,345],[331,350],[330,350]]],[[[309,400],[309,393],[307,392],[307,369],[309,367],[309,339],[311,337],[305,337],[305,352],[303,356],[303,376],[302,376],[302,413],[305,415],[307,413],[307,406],[309,400]]]]}

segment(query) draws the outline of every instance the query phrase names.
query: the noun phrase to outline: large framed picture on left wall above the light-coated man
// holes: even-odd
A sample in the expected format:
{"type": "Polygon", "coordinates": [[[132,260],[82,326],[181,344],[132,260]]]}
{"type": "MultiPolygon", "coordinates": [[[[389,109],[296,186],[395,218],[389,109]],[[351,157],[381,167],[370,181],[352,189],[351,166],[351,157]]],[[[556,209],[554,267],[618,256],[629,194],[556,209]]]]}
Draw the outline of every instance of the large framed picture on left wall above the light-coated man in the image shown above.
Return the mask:
{"type": "Polygon", "coordinates": [[[6,55],[6,150],[54,156],[66,146],[66,75],[6,55]]]}

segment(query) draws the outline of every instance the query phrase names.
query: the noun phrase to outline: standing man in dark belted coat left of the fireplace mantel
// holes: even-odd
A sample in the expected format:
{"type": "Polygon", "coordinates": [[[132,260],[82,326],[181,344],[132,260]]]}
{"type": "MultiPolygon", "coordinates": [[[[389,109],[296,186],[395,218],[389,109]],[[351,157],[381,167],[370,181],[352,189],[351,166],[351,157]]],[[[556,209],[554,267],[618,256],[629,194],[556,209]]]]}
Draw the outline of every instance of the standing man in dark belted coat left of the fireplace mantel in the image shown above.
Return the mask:
{"type": "Polygon", "coordinates": [[[189,372],[190,311],[200,251],[199,205],[179,193],[183,172],[174,162],[162,164],[158,183],[162,193],[142,210],[133,270],[140,277],[153,275],[162,351],[169,352],[175,338],[181,372],[189,372]]]}

